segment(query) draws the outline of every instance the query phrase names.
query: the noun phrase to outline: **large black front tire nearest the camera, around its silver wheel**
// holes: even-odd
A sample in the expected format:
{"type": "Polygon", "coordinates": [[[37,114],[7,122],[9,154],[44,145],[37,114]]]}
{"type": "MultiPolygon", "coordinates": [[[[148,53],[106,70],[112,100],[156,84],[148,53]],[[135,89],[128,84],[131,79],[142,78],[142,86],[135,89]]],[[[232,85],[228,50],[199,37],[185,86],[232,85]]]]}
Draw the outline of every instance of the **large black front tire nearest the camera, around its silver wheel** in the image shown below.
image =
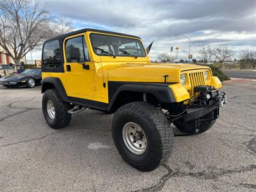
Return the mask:
{"type": "Polygon", "coordinates": [[[157,168],[168,159],[173,150],[173,131],[163,112],[147,102],[131,102],[119,108],[113,116],[112,136],[123,159],[143,172],[157,168]],[[140,125],[147,138],[143,154],[132,153],[123,140],[124,125],[134,122],[140,125]]]}

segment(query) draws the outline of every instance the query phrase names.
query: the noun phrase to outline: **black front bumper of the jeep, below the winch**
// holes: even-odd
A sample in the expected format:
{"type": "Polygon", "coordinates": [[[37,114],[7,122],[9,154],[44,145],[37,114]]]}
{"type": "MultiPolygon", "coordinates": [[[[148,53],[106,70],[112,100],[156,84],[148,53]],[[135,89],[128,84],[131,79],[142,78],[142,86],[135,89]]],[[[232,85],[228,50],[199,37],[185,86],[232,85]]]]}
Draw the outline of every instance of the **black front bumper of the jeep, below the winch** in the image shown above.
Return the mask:
{"type": "Polygon", "coordinates": [[[188,122],[189,120],[200,119],[202,116],[205,116],[211,112],[214,112],[212,120],[216,119],[219,116],[219,108],[224,107],[225,104],[227,104],[227,97],[224,92],[221,92],[218,96],[209,100],[204,107],[192,107],[186,109],[183,116],[184,121],[188,122]]]}

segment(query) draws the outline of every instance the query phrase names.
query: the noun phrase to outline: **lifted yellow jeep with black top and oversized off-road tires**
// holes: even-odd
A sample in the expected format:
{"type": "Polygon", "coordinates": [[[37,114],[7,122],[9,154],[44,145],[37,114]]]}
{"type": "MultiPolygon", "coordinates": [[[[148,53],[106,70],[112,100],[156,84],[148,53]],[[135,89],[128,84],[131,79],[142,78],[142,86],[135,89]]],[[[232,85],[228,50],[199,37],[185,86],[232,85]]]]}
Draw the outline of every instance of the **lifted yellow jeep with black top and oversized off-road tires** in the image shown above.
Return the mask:
{"type": "Polygon", "coordinates": [[[64,127],[72,114],[88,108],[115,113],[116,148],[141,171],[170,156],[172,123],[186,134],[205,132],[227,101],[209,67],[150,63],[140,37],[96,29],[47,40],[42,78],[49,126],[64,127]]]}

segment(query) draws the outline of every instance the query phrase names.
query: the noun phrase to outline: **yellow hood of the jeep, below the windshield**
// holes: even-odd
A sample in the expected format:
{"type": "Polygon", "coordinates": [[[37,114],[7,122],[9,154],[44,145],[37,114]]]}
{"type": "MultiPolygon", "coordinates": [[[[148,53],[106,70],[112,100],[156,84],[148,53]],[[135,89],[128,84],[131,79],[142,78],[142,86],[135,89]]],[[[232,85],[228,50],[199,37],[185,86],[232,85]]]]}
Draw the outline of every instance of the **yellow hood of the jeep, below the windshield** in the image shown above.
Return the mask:
{"type": "Polygon", "coordinates": [[[179,82],[179,74],[182,70],[204,69],[200,65],[172,64],[172,63],[149,63],[149,64],[120,64],[112,67],[108,72],[108,81],[134,81],[134,82],[179,82]]]}

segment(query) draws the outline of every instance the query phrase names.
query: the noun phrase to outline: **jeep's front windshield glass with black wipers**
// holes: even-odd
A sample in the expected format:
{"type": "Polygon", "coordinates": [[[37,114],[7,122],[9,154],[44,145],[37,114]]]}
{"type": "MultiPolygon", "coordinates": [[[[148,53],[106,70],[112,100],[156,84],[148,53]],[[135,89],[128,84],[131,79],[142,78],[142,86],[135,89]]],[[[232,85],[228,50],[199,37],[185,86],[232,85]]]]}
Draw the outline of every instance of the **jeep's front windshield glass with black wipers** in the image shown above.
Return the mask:
{"type": "Polygon", "coordinates": [[[90,35],[90,39],[93,51],[100,56],[109,56],[109,53],[115,56],[146,56],[145,49],[140,40],[134,38],[93,33],[90,35]]]}

